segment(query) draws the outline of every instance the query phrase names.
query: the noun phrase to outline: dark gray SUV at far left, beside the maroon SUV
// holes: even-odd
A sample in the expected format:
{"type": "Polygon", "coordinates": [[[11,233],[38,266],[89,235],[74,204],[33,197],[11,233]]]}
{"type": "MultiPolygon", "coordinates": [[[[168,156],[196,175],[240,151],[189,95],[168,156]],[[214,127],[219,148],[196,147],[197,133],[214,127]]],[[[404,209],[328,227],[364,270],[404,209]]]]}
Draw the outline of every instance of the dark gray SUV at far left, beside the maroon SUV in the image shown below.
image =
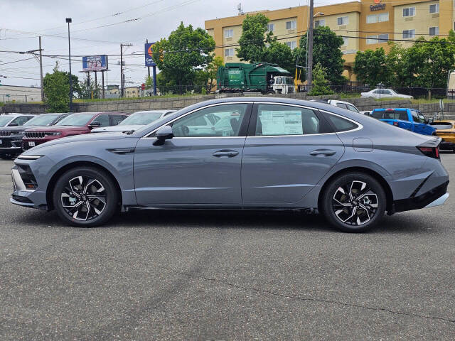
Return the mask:
{"type": "Polygon", "coordinates": [[[35,126],[52,126],[69,114],[41,114],[22,126],[8,126],[0,131],[0,158],[10,159],[22,153],[23,132],[35,126]]]}

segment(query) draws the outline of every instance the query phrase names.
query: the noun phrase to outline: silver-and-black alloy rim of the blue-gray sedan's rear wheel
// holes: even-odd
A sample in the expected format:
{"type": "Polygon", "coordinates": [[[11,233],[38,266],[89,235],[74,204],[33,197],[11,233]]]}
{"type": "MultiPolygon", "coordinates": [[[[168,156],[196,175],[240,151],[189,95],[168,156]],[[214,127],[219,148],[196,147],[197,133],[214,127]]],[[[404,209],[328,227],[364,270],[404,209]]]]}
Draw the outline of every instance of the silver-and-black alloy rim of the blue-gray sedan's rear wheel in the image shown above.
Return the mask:
{"type": "Polygon", "coordinates": [[[360,226],[373,219],[378,211],[378,195],[360,180],[338,187],[332,198],[333,212],[344,224],[360,226]]]}

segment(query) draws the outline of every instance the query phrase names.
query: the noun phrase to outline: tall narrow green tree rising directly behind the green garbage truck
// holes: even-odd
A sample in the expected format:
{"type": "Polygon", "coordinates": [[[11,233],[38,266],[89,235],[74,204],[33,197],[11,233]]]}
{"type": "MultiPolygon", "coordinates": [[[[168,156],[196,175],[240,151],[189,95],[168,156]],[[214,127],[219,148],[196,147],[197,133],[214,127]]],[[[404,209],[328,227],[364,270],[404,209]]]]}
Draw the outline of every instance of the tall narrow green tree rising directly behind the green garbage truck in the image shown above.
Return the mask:
{"type": "Polygon", "coordinates": [[[266,44],[272,41],[272,32],[267,33],[267,23],[269,18],[262,13],[247,17],[242,23],[242,36],[236,48],[237,57],[250,63],[262,62],[266,44]]]}

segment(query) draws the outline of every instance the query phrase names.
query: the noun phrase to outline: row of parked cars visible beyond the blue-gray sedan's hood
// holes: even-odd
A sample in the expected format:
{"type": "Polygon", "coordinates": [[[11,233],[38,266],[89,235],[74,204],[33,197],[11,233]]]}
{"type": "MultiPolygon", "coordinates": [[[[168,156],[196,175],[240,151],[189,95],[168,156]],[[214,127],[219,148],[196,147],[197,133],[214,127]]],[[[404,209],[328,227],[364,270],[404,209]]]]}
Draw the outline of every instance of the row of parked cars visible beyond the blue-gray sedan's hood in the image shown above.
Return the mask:
{"type": "Polygon", "coordinates": [[[0,116],[0,158],[11,159],[29,148],[66,136],[105,131],[134,131],[173,110],[6,114],[0,116]]]}

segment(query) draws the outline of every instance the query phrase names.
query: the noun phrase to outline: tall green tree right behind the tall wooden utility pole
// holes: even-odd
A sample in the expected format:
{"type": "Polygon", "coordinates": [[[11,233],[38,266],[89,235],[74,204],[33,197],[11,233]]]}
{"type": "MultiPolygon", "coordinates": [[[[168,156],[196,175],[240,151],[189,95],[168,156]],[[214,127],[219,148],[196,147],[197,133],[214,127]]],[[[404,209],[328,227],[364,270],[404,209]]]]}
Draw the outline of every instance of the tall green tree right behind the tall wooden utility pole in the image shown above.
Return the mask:
{"type": "MultiPolygon", "coordinates": [[[[294,64],[306,66],[306,33],[300,38],[299,48],[294,48],[294,64]]],[[[327,26],[314,29],[313,65],[321,64],[327,72],[327,80],[333,85],[346,82],[343,73],[343,38],[337,36],[327,26]]]]}

